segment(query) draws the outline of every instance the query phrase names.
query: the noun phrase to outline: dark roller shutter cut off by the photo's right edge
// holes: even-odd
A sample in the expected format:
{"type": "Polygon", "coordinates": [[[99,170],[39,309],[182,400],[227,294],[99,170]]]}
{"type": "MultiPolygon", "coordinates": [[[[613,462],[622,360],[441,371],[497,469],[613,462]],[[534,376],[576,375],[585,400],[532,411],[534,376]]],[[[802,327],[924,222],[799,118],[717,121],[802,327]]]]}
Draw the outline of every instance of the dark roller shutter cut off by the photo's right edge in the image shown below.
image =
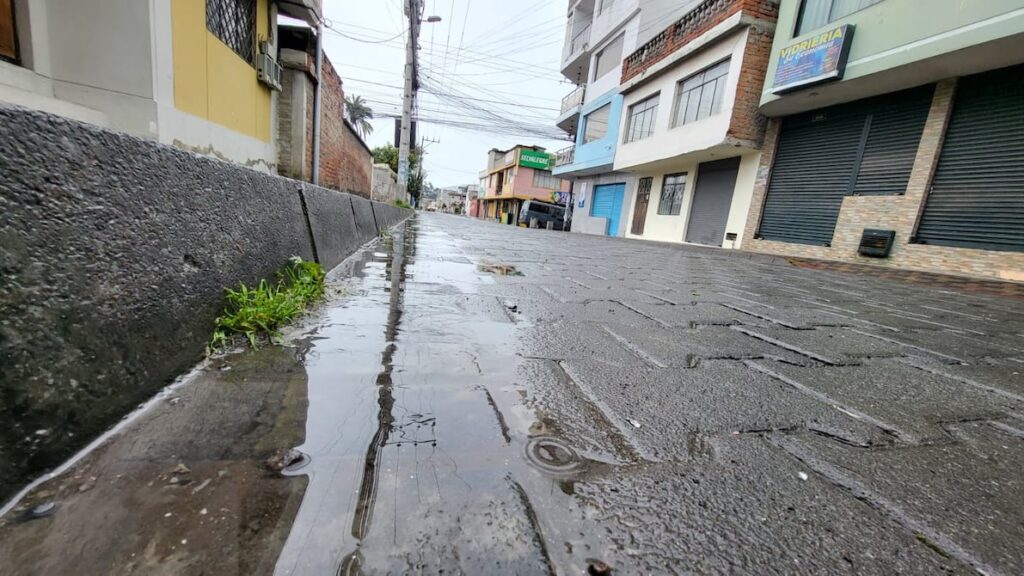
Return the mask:
{"type": "Polygon", "coordinates": [[[1024,66],[961,80],[914,241],[1024,251],[1024,66]]]}

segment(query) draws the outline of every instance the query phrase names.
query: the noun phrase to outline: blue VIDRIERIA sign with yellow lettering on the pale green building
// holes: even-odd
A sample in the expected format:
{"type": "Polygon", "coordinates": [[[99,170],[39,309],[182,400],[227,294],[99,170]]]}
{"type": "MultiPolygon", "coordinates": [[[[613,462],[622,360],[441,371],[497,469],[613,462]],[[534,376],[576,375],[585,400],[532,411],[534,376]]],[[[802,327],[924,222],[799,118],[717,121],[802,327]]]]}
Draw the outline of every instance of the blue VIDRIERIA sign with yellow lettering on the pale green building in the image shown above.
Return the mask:
{"type": "Polygon", "coordinates": [[[852,41],[853,26],[844,25],[782,48],[772,92],[780,94],[843,78],[852,41]]]}

